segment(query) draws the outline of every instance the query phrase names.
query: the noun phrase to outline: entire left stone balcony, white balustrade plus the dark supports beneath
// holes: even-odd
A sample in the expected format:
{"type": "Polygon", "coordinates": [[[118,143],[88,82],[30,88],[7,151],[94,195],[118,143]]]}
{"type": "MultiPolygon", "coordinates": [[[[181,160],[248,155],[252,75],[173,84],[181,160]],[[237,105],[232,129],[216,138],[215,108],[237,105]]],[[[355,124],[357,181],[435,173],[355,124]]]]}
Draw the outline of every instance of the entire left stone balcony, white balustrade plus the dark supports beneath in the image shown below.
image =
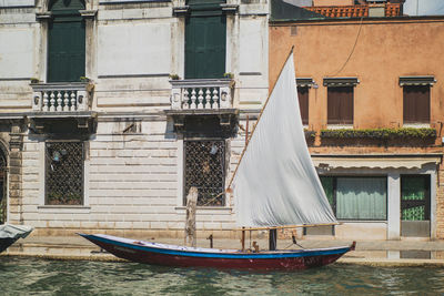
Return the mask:
{"type": "MultiPolygon", "coordinates": [[[[43,131],[57,121],[77,122],[77,127],[91,127],[94,84],[91,82],[31,83],[32,112],[27,116],[34,129],[43,131]]],[[[47,129],[48,130],[48,129],[47,129]]]]}

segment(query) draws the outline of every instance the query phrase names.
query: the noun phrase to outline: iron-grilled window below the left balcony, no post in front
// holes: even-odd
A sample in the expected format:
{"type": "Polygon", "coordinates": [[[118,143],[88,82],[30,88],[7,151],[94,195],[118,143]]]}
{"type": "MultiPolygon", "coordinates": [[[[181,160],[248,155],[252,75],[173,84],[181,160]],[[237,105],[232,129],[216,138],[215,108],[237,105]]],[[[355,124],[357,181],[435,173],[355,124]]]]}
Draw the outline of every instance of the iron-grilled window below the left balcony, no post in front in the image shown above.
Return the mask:
{"type": "Polygon", "coordinates": [[[46,204],[83,204],[83,142],[46,143],[46,204]]]}

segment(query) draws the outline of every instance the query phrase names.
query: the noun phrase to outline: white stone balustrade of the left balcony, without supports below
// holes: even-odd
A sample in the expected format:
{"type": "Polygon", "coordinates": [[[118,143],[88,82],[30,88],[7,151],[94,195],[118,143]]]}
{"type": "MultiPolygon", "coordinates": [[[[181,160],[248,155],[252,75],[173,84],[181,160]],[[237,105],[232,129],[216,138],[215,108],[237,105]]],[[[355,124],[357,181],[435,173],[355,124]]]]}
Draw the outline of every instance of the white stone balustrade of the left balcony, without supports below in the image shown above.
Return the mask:
{"type": "Polygon", "coordinates": [[[93,84],[89,82],[32,83],[32,110],[41,112],[89,111],[93,84]]]}

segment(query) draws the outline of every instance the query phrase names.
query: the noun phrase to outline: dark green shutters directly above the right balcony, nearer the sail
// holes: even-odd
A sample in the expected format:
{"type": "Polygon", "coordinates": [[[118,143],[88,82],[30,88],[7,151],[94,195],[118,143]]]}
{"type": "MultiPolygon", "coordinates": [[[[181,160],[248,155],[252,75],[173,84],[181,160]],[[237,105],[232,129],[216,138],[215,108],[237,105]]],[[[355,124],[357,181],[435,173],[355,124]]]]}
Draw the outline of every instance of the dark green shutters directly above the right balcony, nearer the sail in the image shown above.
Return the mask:
{"type": "MultiPolygon", "coordinates": [[[[209,13],[211,14],[211,13],[209,13]]],[[[185,78],[222,78],[225,72],[225,16],[189,17],[185,24],[185,78]]]]}

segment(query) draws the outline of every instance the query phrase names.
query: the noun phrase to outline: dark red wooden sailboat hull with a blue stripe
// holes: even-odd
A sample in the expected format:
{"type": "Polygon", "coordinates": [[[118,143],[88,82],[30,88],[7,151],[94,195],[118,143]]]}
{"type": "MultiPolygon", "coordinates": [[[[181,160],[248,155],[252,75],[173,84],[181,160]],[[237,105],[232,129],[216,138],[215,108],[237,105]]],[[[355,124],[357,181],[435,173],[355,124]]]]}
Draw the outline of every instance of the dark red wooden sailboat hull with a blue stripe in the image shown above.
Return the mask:
{"type": "Polygon", "coordinates": [[[169,246],[108,235],[79,234],[109,253],[131,262],[174,267],[211,267],[250,271],[297,271],[324,266],[339,259],[345,247],[248,253],[169,246]],[[167,247],[164,247],[167,246],[167,247]]]}

